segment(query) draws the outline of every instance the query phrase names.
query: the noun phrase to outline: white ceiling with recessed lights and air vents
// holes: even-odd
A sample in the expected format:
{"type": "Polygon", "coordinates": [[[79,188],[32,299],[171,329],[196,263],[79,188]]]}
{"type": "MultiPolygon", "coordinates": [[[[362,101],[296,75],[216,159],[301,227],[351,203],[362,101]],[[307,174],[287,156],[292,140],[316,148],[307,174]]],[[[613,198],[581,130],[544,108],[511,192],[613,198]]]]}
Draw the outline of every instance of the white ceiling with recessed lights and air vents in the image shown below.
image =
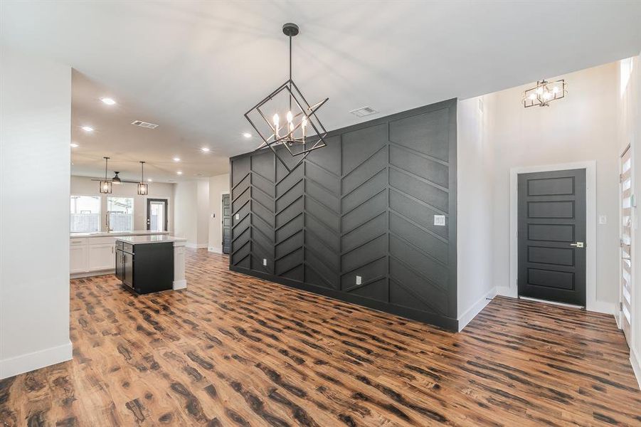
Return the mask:
{"type": "MultiPolygon", "coordinates": [[[[641,1],[2,1],[1,41],[71,65],[73,173],[225,173],[258,146],[243,113],[294,78],[327,129],[638,54],[641,1]],[[118,104],[103,105],[100,96],[118,104]],[[374,116],[376,117],[376,116],[374,116]],[[160,126],[147,130],[132,120],[160,126]],[[86,135],[85,124],[96,131],[86,135]],[[203,154],[201,147],[212,152],[203,154]],[[179,156],[181,164],[172,157],[179,156]]],[[[515,100],[515,107],[518,107],[515,100]]]]}

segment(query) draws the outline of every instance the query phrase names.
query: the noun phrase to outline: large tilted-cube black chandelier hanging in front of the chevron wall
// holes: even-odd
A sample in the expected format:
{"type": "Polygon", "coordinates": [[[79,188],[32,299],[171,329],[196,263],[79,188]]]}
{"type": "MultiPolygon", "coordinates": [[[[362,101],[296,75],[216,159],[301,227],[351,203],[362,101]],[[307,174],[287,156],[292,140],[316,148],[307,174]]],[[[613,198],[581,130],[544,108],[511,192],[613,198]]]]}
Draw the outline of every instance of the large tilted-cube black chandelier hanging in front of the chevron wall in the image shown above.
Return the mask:
{"type": "Polygon", "coordinates": [[[309,105],[292,80],[292,37],[299,33],[299,28],[295,23],[285,23],[282,33],[290,38],[290,78],[246,112],[245,118],[263,139],[263,143],[256,149],[269,147],[283,166],[292,172],[307,154],[327,145],[324,139],[327,137],[327,130],[316,112],[329,98],[309,105]],[[285,115],[278,115],[277,111],[282,110],[287,111],[285,115]],[[281,122],[281,117],[285,117],[286,124],[281,122]],[[285,147],[292,157],[300,156],[298,162],[292,165],[280,157],[278,151],[282,150],[277,150],[278,145],[285,147]]]}

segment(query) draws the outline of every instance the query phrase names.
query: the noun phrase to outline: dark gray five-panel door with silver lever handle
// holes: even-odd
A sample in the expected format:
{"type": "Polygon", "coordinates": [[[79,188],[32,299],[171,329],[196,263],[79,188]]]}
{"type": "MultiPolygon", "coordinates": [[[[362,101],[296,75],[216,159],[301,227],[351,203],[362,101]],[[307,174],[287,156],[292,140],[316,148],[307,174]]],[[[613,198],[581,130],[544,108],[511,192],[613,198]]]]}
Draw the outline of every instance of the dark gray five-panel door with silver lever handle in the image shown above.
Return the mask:
{"type": "Polygon", "coordinates": [[[586,170],[519,174],[519,296],[586,305],[586,170]]]}

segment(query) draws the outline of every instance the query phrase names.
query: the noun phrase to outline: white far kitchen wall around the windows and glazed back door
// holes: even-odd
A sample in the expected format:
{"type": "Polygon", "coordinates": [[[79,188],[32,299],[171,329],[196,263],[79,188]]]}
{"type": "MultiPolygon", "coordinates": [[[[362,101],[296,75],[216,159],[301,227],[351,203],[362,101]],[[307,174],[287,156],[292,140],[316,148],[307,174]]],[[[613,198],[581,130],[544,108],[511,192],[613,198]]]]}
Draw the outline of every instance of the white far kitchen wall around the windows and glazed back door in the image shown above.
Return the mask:
{"type": "Polygon", "coordinates": [[[101,230],[106,230],[107,196],[134,198],[134,231],[147,230],[147,199],[167,199],[167,228],[174,231],[174,185],[160,182],[149,183],[149,195],[139,196],[136,184],[114,184],[112,194],[100,194],[98,181],[87,176],[71,176],[71,194],[76,196],[102,196],[100,206],[101,230]]]}

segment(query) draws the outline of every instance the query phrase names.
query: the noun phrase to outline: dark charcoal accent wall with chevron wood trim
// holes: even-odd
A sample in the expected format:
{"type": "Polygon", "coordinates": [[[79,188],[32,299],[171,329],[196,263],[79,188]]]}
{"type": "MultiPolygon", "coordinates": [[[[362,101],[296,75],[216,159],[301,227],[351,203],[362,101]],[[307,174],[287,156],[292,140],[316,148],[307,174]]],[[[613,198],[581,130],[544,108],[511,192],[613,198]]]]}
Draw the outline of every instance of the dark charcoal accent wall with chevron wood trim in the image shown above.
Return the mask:
{"type": "Polygon", "coordinates": [[[231,270],[457,329],[456,100],[330,132],[291,173],[233,157],[230,179],[231,270]]]}

